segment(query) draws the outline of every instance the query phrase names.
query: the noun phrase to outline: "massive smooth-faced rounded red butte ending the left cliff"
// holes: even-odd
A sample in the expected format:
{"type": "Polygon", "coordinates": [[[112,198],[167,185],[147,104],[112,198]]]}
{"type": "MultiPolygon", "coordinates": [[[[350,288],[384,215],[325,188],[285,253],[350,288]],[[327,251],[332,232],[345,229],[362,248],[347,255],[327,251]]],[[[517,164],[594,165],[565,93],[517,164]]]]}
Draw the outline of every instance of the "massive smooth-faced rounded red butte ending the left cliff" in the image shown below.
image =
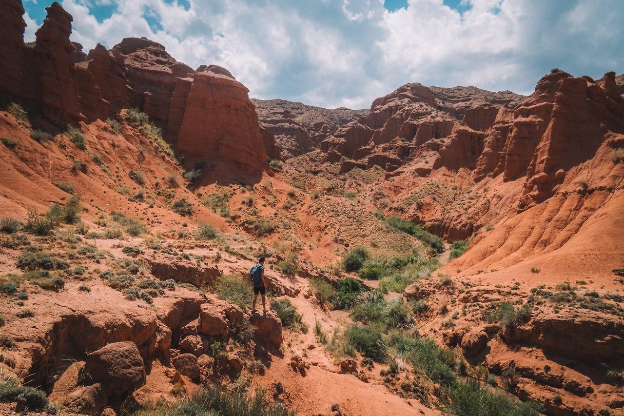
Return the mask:
{"type": "Polygon", "coordinates": [[[212,71],[195,74],[178,149],[197,157],[234,161],[248,171],[266,166],[258,116],[247,93],[232,77],[212,71]]]}

